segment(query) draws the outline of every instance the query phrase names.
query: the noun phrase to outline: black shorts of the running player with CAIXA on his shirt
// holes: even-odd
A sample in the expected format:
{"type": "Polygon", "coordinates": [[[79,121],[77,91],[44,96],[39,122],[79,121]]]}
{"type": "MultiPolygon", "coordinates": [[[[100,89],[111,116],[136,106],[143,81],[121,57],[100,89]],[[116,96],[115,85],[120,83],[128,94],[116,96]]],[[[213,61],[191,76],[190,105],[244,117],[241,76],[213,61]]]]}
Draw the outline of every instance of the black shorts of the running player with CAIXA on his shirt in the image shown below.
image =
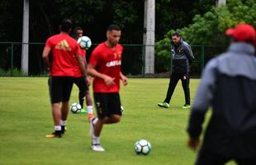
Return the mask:
{"type": "Polygon", "coordinates": [[[118,92],[94,92],[93,97],[99,119],[110,115],[121,115],[121,101],[118,92]]]}

